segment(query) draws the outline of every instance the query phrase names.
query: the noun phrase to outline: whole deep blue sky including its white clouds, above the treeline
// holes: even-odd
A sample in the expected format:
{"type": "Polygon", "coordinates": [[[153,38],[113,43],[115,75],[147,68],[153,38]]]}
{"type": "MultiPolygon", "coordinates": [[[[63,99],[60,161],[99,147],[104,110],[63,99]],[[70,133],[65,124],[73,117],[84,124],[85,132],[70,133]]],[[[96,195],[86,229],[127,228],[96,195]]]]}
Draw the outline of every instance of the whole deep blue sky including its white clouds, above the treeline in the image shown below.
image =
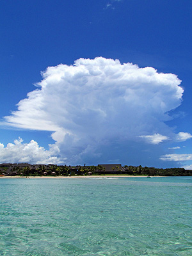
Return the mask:
{"type": "Polygon", "coordinates": [[[1,1],[0,162],[191,168],[191,10],[1,1]]]}

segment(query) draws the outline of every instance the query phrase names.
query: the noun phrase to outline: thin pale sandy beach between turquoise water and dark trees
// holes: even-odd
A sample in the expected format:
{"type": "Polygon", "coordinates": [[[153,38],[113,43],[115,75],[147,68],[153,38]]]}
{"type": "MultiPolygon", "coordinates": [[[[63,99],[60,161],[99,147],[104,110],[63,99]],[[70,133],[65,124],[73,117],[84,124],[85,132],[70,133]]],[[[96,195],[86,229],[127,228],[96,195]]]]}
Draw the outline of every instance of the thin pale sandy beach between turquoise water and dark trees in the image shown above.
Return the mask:
{"type": "MultiPolygon", "coordinates": [[[[90,179],[90,178],[146,178],[148,175],[90,175],[90,176],[0,176],[0,179],[90,179]],[[28,177],[28,178],[27,178],[28,177]]],[[[168,177],[168,176],[150,176],[168,177]]]]}

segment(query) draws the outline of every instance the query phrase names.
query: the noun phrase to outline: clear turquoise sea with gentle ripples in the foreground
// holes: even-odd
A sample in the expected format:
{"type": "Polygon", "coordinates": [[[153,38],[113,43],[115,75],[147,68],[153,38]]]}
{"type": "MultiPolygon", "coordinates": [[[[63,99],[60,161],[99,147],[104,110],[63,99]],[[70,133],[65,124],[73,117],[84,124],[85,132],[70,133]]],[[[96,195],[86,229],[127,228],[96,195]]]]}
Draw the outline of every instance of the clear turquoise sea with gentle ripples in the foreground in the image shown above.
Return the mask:
{"type": "Polygon", "coordinates": [[[0,179],[0,255],[192,255],[192,177],[0,179]]]}

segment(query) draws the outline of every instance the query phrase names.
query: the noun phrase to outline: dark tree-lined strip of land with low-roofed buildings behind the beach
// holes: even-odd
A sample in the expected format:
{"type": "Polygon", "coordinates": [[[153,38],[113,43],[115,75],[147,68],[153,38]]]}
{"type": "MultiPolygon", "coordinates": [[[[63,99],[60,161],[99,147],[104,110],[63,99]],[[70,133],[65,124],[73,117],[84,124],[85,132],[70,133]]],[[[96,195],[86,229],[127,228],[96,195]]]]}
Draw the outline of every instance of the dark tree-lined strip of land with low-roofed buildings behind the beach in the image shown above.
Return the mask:
{"type": "Polygon", "coordinates": [[[191,176],[192,170],[184,168],[154,168],[122,166],[122,164],[98,164],[97,166],[67,166],[56,164],[1,163],[0,176],[84,176],[84,175],[150,175],[191,176]]]}

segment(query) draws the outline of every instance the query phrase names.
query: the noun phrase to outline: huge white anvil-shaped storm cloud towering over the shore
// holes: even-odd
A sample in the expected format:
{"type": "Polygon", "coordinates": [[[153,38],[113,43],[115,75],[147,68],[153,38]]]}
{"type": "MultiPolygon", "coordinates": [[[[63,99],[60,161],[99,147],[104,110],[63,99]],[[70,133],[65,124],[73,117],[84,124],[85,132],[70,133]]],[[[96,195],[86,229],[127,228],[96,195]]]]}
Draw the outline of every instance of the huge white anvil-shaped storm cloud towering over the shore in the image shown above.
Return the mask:
{"type": "MultiPolygon", "coordinates": [[[[5,122],[51,131],[68,163],[108,162],[112,147],[116,159],[127,161],[131,143],[149,139],[157,144],[176,136],[164,124],[170,120],[168,111],[182,100],[180,80],[174,74],[100,57],[48,67],[42,76],[38,89],[20,100],[18,110],[5,122]],[[122,145],[127,148],[122,150],[122,145]]],[[[180,134],[177,140],[186,137],[189,134],[180,134]]]]}

